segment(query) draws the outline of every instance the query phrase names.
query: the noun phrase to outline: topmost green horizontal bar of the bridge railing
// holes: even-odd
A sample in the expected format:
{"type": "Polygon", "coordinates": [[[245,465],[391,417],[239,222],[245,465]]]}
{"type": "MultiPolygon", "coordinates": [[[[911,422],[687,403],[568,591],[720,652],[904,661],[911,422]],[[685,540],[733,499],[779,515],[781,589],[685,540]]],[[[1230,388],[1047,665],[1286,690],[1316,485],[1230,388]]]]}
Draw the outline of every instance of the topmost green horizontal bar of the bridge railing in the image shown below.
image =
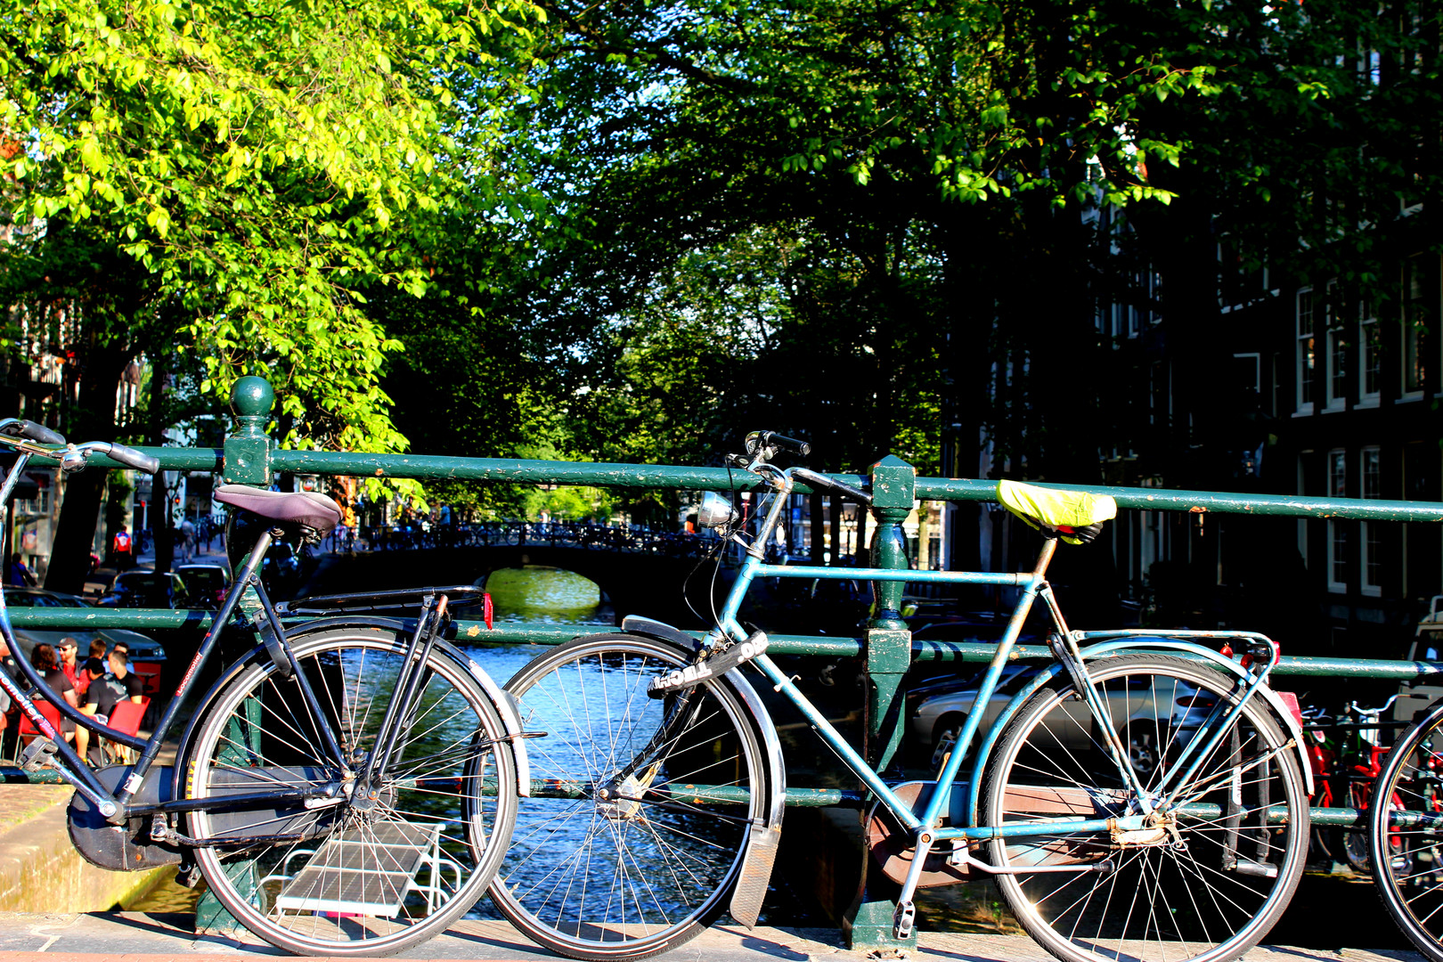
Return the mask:
{"type": "MultiPolygon", "coordinates": [[[[165,470],[211,470],[224,467],[219,449],[141,447],[160,459],[165,470]]],[[[108,457],[91,462],[121,467],[108,457]]],[[[351,451],[271,451],[277,472],[348,475],[356,477],[455,479],[478,482],[531,482],[587,485],[593,487],[674,487],[681,490],[752,490],[760,486],[755,475],[724,467],[671,464],[622,464],[615,462],[543,462],[506,457],[446,457],[440,454],[365,454],[351,451]]],[[[830,475],[853,487],[867,485],[863,475],[830,475]]],[[[1443,502],[1382,500],[1377,498],[1303,498],[1300,495],[1251,495],[1167,487],[1113,487],[1104,485],[1053,485],[1063,490],[1111,495],[1120,508],[1139,511],[1188,511],[1284,518],[1352,518],[1359,521],[1443,522],[1443,502]]],[[[798,483],[797,490],[811,489],[798,483]]],[[[918,477],[922,500],[997,500],[997,482],[973,477],[918,477]]]]}

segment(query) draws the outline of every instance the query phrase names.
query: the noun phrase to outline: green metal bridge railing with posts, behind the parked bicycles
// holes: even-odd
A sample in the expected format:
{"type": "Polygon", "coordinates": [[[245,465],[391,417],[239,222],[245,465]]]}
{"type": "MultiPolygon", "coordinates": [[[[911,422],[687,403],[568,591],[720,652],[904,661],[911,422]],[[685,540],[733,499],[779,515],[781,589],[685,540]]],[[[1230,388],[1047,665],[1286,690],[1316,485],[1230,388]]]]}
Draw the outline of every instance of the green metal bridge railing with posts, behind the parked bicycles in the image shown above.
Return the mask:
{"type": "MultiPolygon", "coordinates": [[[[584,485],[592,487],[671,487],[681,490],[752,490],[760,487],[746,472],[724,467],[683,467],[665,464],[619,464],[541,462],[494,457],[447,457],[420,454],[368,454],[349,451],[277,450],[266,433],[274,392],[261,378],[241,378],[231,395],[235,425],[221,449],[140,447],[144,454],[160,460],[162,470],[216,472],[225,483],[268,486],[276,473],[336,475],[356,477],[394,477],[418,480],[476,480],[524,482],[547,485],[584,485]]],[[[107,457],[94,456],[95,467],[121,467],[107,457]]],[[[902,524],[918,500],[990,502],[996,500],[996,482],[978,479],[918,477],[915,469],[900,459],[887,456],[873,464],[867,475],[833,475],[854,487],[870,486],[873,492],[872,567],[909,568],[902,524]]],[[[1241,513],[1255,516],[1328,518],[1394,522],[1443,522],[1443,503],[1351,498],[1304,498],[1297,495],[1248,495],[1159,487],[1113,487],[1091,485],[1052,485],[1068,490],[1111,495],[1120,509],[1176,511],[1190,513],[1241,513]]],[[[811,493],[798,483],[798,493],[811,493]]],[[[853,577],[838,567],[838,578],[853,577]]],[[[883,770],[896,754],[905,727],[898,710],[902,679],[913,662],[987,662],[994,645],[968,642],[916,642],[902,620],[903,581],[877,581],[873,617],[857,637],[773,635],[773,655],[815,655],[831,658],[863,658],[869,679],[866,695],[866,756],[876,770],[883,770]]],[[[169,609],[13,609],[10,620],[17,627],[127,627],[127,629],[196,629],[209,625],[205,610],[169,609]]],[[[485,645],[560,645],[576,636],[574,626],[556,625],[496,625],[486,629],[481,622],[457,620],[457,640],[485,645]]],[[[1167,632],[1156,632],[1166,637],[1167,632]]],[[[1045,646],[1016,649],[1020,661],[1049,661],[1045,646]]],[[[1443,662],[1375,661],[1342,658],[1284,656],[1276,675],[1343,676],[1365,679],[1418,679],[1443,675],[1443,662]]],[[[7,782],[59,782],[53,770],[23,773],[0,769],[7,782]]],[[[866,798],[860,792],[841,789],[789,787],[789,806],[850,806],[861,808],[866,798]]],[[[1355,809],[1312,809],[1317,825],[1359,825],[1355,809]]],[[[225,929],[224,909],[203,907],[212,929],[225,929]],[[218,912],[216,912],[218,910],[218,912]]],[[[900,948],[892,935],[893,906],[883,896],[866,893],[850,926],[853,948],[900,948]]],[[[238,923],[231,922],[229,927],[238,923]]]]}

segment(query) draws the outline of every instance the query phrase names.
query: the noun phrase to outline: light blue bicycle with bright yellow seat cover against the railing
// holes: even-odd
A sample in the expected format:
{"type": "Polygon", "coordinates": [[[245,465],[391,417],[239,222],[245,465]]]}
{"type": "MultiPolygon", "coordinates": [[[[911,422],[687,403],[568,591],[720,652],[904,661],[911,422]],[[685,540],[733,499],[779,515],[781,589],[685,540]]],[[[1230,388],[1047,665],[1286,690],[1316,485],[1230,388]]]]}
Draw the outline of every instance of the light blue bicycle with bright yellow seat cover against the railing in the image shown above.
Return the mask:
{"type": "Polygon", "coordinates": [[[786,767],[742,672],[749,668],[876,800],[870,837],[900,883],[898,936],[915,926],[919,887],[991,875],[1022,926],[1069,962],[1222,962],[1254,946],[1287,906],[1309,838],[1302,730],[1267,685],[1277,646],[1250,632],[1068,629],[1048,564],[1059,541],[1094,538],[1114,516],[1105,496],[1003,482],[999,499],[1043,535],[1030,571],[769,564],[765,548],[794,483],[872,502],[837,479],[775,466],[781,451],[805,454],[807,446],[755,433],[734,460],[772,493],[755,529],[720,495],[698,511],[723,535],[719,545],[740,542],[746,552],[700,643],[629,617],[620,632],[543,653],[506,684],[524,725],[547,736],[531,743],[531,798],[519,799],[491,887],[501,912],[537,943],[579,959],[672,949],[724,909],[755,925],[781,838],[786,767]],[[879,776],[771,659],[766,636],[739,623],[759,578],[1016,590],[935,780],[879,776]],[[996,705],[1039,599],[1055,662],[996,705]],[[970,777],[960,780],[964,764],[970,777]]]}

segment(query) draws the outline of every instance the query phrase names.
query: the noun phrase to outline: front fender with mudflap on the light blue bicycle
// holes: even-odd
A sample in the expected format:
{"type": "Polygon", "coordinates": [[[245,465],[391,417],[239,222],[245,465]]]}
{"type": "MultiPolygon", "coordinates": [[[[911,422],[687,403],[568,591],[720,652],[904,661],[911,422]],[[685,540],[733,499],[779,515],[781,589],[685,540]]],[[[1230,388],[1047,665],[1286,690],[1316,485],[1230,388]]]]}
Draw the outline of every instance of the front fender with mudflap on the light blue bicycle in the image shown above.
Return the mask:
{"type": "MultiPolygon", "coordinates": [[[[684,649],[696,650],[697,639],[678,627],[654,622],[646,617],[628,616],[622,619],[622,630],[632,635],[642,635],[658,642],[671,642],[684,649]]],[[[766,886],[772,878],[772,865],[776,862],[776,847],[782,839],[782,812],[786,808],[786,764],[782,762],[782,744],[776,737],[776,725],[772,724],[772,714],[766,710],[762,698],[756,694],[740,668],[733,668],[723,678],[732,685],[737,698],[746,705],[752,715],[752,725],[762,738],[762,751],[766,754],[766,812],[759,822],[752,822],[747,837],[746,852],[742,855],[742,870],[737,873],[736,886],[732,888],[732,917],[747,929],[756,927],[758,916],[762,912],[762,900],[766,897],[766,886]]]]}

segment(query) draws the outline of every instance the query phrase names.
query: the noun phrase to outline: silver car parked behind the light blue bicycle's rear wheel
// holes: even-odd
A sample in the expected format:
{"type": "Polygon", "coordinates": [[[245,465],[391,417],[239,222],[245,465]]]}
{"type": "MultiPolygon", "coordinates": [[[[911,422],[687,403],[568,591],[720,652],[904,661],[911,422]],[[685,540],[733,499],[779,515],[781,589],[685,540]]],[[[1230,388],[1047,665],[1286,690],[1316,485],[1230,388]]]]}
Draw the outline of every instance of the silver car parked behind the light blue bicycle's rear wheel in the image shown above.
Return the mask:
{"type": "MultiPolygon", "coordinates": [[[[1022,691],[1036,672],[1038,668],[1033,665],[1003,666],[997,689],[983,710],[978,731],[984,733],[991,727],[1013,695],[1022,691]]],[[[913,705],[908,712],[912,734],[922,746],[932,750],[934,767],[942,763],[942,756],[952,749],[961,734],[962,723],[977,701],[981,679],[983,672],[971,678],[938,679],[913,688],[908,695],[908,701],[913,705]]],[[[1124,675],[1104,682],[1104,692],[1113,705],[1114,724],[1118,725],[1118,733],[1126,724],[1133,767],[1144,777],[1160,762],[1159,746],[1188,744],[1189,731],[1202,724],[1214,704],[1211,698],[1199,697],[1195,687],[1180,679],[1176,679],[1166,692],[1154,691],[1153,679],[1153,675],[1124,675]],[[1162,704],[1157,704],[1159,701],[1162,704]]],[[[1101,738],[1094,731],[1092,712],[1085,701],[1063,702],[1062,717],[1049,715],[1048,727],[1061,746],[1078,757],[1089,751],[1102,753],[1101,738]]]]}

